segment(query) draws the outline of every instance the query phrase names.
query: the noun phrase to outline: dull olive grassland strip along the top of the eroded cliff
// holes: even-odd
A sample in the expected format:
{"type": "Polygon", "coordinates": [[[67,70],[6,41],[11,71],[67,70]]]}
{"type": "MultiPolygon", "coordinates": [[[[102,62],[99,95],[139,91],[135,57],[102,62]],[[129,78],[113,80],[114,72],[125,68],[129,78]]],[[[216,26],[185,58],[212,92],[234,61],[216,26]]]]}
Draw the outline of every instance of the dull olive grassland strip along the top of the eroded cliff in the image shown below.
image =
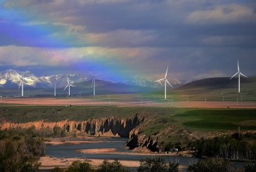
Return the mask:
{"type": "Polygon", "coordinates": [[[0,119],[13,122],[61,121],[65,119],[81,121],[90,118],[117,117],[124,119],[135,114],[143,116],[167,115],[161,107],[88,107],[88,106],[1,106],[0,119]]]}

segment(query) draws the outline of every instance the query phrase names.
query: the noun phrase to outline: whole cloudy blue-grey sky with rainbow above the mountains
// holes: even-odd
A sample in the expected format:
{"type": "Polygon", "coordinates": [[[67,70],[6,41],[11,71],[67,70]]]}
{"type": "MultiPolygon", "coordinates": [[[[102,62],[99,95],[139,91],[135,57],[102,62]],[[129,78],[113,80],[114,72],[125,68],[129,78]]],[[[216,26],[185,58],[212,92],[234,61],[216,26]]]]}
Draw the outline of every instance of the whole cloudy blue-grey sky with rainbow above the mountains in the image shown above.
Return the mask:
{"type": "Polygon", "coordinates": [[[0,71],[113,81],[256,75],[255,0],[0,0],[0,71]]]}

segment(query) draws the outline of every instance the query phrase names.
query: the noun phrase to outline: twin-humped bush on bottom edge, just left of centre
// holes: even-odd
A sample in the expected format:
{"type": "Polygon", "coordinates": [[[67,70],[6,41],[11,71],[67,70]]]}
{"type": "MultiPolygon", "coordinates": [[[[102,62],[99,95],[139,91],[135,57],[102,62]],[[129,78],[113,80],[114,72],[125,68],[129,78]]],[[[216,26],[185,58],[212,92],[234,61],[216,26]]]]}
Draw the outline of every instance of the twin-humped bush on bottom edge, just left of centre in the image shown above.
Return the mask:
{"type": "Polygon", "coordinates": [[[122,164],[120,164],[117,159],[110,163],[108,160],[104,160],[100,166],[98,167],[98,172],[127,172],[126,169],[123,168],[122,164]]]}

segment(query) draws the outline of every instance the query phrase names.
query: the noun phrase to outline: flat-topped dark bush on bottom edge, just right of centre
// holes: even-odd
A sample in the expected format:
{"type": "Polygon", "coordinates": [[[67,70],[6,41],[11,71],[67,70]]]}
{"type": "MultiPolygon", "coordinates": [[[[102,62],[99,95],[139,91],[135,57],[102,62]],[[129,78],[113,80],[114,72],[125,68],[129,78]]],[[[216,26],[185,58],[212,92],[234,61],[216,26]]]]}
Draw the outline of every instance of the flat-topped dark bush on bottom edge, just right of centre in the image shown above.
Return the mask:
{"type": "Polygon", "coordinates": [[[167,164],[165,163],[164,159],[162,159],[160,157],[141,159],[138,171],[141,171],[141,172],[167,171],[167,164]]]}

